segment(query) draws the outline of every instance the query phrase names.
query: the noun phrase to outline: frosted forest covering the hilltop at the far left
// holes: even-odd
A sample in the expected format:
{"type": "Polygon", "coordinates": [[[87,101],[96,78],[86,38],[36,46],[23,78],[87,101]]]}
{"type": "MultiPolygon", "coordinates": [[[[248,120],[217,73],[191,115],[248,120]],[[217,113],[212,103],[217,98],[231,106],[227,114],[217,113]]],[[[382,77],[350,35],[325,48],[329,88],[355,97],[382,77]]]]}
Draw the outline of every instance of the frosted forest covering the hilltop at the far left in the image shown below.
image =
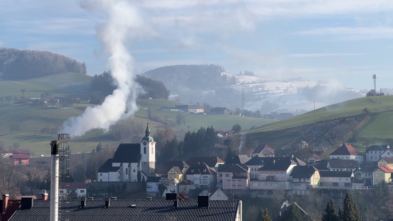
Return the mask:
{"type": "Polygon", "coordinates": [[[31,79],[63,72],[87,73],[84,62],[70,57],[16,48],[0,48],[0,72],[3,79],[31,79]]]}

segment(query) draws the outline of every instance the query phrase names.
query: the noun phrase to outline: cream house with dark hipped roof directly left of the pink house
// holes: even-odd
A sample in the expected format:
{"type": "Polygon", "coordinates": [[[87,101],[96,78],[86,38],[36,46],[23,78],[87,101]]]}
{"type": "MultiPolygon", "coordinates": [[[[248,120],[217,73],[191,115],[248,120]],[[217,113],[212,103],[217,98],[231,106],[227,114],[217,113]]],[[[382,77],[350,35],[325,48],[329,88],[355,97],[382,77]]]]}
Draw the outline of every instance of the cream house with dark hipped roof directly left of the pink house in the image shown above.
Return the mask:
{"type": "Polygon", "coordinates": [[[214,187],[217,183],[217,172],[206,163],[196,162],[187,169],[186,180],[191,181],[190,189],[214,187]]]}

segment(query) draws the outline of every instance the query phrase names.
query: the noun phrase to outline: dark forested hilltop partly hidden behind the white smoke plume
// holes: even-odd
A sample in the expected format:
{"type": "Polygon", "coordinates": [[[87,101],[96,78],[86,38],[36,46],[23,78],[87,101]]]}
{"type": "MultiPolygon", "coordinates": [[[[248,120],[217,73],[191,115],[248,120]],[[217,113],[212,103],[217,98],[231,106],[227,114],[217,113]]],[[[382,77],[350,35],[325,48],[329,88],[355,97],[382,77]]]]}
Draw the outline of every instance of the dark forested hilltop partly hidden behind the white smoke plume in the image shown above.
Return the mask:
{"type": "MultiPolygon", "coordinates": [[[[154,81],[140,75],[136,75],[135,81],[138,82],[146,92],[146,94],[141,94],[139,96],[140,99],[149,99],[149,97],[153,99],[168,99],[169,90],[167,90],[162,81],[154,81]]],[[[110,75],[110,71],[103,72],[100,75],[96,74],[92,81],[92,89],[102,91],[105,95],[112,94],[112,91],[116,88],[112,82],[113,79],[110,75]]]]}

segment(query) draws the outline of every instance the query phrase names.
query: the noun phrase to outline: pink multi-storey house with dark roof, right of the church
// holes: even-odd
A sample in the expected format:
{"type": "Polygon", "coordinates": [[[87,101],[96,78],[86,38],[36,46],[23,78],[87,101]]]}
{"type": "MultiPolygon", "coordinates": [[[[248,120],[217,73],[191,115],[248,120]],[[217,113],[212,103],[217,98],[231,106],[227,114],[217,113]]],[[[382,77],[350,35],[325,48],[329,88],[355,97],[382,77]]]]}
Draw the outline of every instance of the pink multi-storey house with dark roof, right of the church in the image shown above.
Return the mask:
{"type": "Polygon", "coordinates": [[[250,180],[250,169],[244,164],[220,164],[217,172],[217,187],[224,192],[246,192],[250,180]]]}

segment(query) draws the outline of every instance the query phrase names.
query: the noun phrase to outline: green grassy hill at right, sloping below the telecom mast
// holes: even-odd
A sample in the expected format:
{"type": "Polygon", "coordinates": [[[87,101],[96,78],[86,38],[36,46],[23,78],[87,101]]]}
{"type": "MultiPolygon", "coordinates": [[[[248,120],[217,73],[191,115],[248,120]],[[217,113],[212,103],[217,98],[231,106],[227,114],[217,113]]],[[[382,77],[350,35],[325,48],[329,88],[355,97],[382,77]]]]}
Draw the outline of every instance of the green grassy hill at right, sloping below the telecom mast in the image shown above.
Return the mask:
{"type": "Polygon", "coordinates": [[[393,110],[393,96],[382,96],[382,104],[380,104],[380,97],[352,99],[315,110],[315,115],[311,111],[243,133],[248,134],[252,140],[259,143],[269,143],[279,148],[299,136],[301,131],[306,130],[316,121],[361,114],[365,107],[373,113],[360,126],[357,134],[358,141],[346,140],[346,142],[351,142],[351,145],[356,149],[364,152],[365,146],[362,144],[365,140],[370,140],[376,144],[384,144],[387,138],[393,137],[393,130],[391,129],[393,112],[387,112],[387,110],[393,110]]]}

